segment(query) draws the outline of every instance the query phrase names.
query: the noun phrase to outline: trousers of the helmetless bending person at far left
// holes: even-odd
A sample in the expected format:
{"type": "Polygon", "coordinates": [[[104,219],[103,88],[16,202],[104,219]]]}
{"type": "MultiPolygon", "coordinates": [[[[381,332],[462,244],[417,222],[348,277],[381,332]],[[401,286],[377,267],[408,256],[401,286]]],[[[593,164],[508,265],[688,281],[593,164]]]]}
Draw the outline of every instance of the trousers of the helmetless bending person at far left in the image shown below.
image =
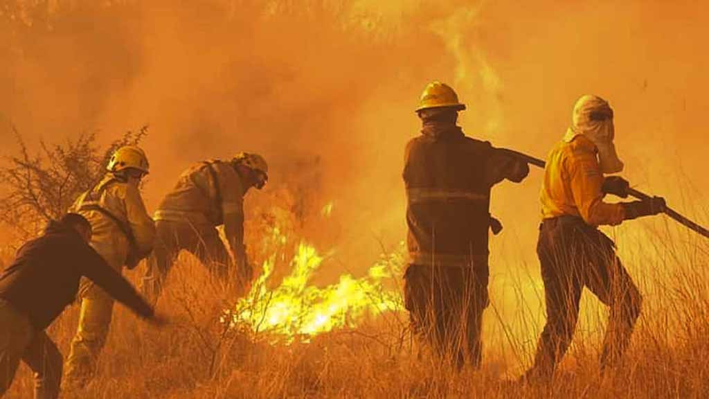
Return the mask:
{"type": "Polygon", "coordinates": [[[59,349],[25,315],[0,300],[0,397],[10,388],[20,361],[34,373],[35,399],[59,397],[63,363],[59,349]]]}

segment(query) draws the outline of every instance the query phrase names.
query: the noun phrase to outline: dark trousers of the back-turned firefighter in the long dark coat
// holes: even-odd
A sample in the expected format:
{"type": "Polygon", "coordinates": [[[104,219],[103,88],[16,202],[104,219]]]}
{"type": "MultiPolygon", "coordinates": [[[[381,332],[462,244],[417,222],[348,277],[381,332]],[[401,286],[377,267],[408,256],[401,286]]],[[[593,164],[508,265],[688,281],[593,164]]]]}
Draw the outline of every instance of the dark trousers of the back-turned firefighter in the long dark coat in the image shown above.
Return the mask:
{"type": "MultiPolygon", "coordinates": [[[[479,367],[487,287],[470,268],[411,265],[404,300],[415,334],[438,356],[479,367]]],[[[485,279],[486,281],[486,279],[485,279]]]]}

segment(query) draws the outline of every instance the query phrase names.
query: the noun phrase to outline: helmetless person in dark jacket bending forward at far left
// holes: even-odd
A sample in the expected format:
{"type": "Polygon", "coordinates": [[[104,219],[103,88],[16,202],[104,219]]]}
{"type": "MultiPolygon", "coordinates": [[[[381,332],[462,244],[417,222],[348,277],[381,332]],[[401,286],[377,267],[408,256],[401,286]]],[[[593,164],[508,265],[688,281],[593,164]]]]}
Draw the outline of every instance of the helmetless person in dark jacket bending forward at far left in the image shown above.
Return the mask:
{"type": "Polygon", "coordinates": [[[89,241],[89,221],[66,214],[23,245],[0,274],[0,396],[10,387],[21,360],[33,371],[35,398],[59,396],[62,354],[45,329],[74,301],[82,276],[140,317],[162,324],[89,241]]]}

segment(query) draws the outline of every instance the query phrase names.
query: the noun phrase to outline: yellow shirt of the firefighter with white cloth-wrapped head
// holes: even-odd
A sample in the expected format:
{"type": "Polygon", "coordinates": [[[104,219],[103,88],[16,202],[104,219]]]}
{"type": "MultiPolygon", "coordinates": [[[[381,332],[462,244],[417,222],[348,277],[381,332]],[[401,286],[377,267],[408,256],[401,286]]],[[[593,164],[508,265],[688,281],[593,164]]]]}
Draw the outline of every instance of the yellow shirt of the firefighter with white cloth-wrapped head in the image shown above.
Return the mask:
{"type": "Polygon", "coordinates": [[[569,132],[549,153],[542,187],[542,217],[581,217],[591,226],[615,226],[625,219],[621,204],[603,202],[603,173],[596,145],[569,132]]]}

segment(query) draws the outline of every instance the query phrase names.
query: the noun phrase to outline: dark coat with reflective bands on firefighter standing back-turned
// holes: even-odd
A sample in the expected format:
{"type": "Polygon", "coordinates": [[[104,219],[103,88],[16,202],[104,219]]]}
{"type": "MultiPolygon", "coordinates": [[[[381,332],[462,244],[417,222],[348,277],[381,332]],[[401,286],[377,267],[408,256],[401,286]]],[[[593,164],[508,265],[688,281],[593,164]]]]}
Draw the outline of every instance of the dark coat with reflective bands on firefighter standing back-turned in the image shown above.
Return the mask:
{"type": "Polygon", "coordinates": [[[491,187],[522,181],[528,165],[454,124],[425,124],[404,158],[410,262],[472,264],[486,277],[491,187]]]}

